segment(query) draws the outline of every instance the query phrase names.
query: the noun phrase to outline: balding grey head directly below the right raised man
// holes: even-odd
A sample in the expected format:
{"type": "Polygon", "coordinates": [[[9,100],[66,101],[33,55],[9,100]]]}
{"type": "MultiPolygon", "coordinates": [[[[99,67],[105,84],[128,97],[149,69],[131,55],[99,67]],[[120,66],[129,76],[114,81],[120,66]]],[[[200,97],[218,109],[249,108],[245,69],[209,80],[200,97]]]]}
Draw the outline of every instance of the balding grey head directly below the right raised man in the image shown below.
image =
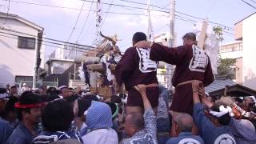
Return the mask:
{"type": "Polygon", "coordinates": [[[192,132],[193,118],[190,114],[182,113],[174,119],[174,129],[176,134],[182,132],[192,132]]]}

